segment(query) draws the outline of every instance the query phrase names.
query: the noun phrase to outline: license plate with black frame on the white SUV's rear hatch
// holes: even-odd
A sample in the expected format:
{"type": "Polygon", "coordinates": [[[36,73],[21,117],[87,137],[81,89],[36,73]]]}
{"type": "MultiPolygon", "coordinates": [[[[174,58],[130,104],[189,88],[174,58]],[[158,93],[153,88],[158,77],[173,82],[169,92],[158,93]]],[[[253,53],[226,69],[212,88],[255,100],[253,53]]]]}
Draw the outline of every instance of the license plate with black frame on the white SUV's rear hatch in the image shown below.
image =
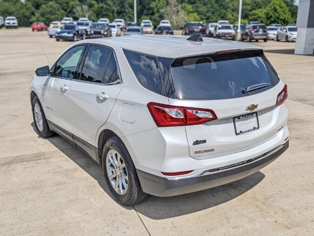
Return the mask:
{"type": "Polygon", "coordinates": [[[236,135],[245,134],[259,129],[257,112],[234,117],[233,124],[236,135]]]}

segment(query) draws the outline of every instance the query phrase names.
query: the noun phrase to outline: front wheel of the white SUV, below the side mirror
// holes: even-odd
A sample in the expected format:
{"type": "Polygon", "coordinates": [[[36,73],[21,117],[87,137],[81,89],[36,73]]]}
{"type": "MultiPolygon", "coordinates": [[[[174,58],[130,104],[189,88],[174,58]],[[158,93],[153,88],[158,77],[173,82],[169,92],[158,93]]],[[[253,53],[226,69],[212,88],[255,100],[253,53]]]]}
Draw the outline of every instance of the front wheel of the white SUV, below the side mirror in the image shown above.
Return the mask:
{"type": "Polygon", "coordinates": [[[46,116],[41,107],[40,101],[37,96],[34,96],[31,102],[32,117],[34,120],[35,130],[42,138],[48,138],[54,135],[54,132],[50,130],[46,116]]]}

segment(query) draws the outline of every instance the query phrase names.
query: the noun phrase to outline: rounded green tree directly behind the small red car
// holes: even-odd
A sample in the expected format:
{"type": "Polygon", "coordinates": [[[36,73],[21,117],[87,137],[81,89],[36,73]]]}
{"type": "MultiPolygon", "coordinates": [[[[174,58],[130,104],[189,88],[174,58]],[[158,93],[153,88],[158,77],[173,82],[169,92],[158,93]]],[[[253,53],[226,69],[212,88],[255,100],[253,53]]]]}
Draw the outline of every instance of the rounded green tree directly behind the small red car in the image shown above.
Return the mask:
{"type": "Polygon", "coordinates": [[[31,17],[31,21],[42,21],[49,25],[52,21],[61,20],[65,16],[65,12],[60,5],[54,1],[41,5],[35,15],[31,17]]]}

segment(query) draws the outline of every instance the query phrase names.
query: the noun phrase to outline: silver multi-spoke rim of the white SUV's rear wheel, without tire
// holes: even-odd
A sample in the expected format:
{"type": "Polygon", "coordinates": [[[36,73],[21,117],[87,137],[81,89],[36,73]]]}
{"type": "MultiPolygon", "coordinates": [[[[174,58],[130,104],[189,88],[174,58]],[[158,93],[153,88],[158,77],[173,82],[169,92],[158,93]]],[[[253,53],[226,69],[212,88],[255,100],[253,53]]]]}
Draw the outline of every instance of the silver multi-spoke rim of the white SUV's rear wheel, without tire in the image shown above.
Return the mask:
{"type": "Polygon", "coordinates": [[[108,151],[106,172],[113,189],[119,195],[124,195],[128,187],[128,176],[125,161],[117,150],[111,149],[108,151]]]}

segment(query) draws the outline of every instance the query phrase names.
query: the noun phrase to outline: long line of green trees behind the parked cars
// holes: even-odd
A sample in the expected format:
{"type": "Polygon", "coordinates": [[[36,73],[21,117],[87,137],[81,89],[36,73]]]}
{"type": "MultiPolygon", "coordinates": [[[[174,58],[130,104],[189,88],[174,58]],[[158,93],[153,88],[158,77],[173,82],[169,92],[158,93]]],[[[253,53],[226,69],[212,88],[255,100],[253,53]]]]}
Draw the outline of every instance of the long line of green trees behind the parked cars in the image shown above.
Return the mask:
{"type": "MultiPolygon", "coordinates": [[[[260,21],[266,25],[296,22],[294,0],[243,0],[242,23],[260,21]]],[[[180,29],[188,21],[204,23],[229,20],[237,23],[239,0],[137,0],[138,22],[151,19],[155,26],[162,19],[180,29]]],[[[34,21],[49,24],[63,17],[124,18],[133,21],[133,0],[0,0],[0,16],[16,16],[20,26],[34,21]]]]}

